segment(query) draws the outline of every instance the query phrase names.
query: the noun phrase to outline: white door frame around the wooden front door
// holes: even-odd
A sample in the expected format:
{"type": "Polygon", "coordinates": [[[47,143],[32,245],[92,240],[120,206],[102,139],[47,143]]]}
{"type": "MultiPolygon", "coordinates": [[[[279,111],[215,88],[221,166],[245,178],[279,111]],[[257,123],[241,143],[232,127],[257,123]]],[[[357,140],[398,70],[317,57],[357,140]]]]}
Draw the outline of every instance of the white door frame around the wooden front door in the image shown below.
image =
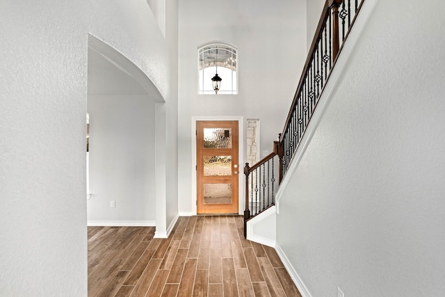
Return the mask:
{"type": "Polygon", "coordinates": [[[200,116],[193,116],[192,117],[192,129],[191,129],[191,157],[192,157],[192,163],[191,163],[191,177],[192,177],[192,184],[191,184],[191,204],[192,204],[192,212],[193,215],[196,216],[197,214],[197,178],[196,178],[196,122],[197,121],[217,121],[217,120],[233,120],[238,122],[238,169],[240,174],[238,174],[238,214],[244,213],[244,207],[245,207],[245,186],[244,186],[244,121],[243,117],[200,117],[200,116]]]}

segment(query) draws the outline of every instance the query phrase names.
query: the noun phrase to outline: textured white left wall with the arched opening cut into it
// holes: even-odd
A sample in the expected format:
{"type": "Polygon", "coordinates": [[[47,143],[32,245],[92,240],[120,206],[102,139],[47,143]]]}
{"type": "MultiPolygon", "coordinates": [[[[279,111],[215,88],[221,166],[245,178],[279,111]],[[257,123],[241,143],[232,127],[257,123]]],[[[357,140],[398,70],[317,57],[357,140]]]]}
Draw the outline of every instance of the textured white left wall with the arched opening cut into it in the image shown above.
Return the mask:
{"type": "Polygon", "coordinates": [[[167,102],[176,37],[146,1],[6,0],[0,24],[0,295],[86,296],[88,33],[167,102]]]}

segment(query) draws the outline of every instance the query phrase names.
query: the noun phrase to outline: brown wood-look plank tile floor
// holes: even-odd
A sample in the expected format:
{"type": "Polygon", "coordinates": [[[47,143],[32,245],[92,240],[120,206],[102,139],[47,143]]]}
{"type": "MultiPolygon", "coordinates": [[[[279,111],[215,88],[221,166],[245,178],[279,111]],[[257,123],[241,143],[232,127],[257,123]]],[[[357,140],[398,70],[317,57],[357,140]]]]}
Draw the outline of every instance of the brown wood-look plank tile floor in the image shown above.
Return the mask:
{"type": "Polygon", "coordinates": [[[88,296],[300,296],[273,248],[244,239],[241,216],[154,227],[88,227],[88,296]]]}

